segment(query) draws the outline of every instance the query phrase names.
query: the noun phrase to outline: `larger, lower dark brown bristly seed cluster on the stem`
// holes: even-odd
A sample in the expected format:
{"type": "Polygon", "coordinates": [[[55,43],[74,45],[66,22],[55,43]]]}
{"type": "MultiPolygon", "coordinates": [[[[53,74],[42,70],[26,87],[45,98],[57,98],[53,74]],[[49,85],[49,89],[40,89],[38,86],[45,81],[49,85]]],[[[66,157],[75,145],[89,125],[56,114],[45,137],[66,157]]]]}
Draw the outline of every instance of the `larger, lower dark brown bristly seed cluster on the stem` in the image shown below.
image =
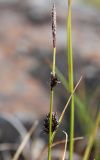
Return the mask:
{"type": "MultiPolygon", "coordinates": [[[[44,132],[49,133],[49,119],[50,119],[50,113],[46,115],[46,118],[44,119],[44,132]]],[[[56,113],[52,113],[52,133],[57,129],[58,125],[58,118],[56,113]]]]}

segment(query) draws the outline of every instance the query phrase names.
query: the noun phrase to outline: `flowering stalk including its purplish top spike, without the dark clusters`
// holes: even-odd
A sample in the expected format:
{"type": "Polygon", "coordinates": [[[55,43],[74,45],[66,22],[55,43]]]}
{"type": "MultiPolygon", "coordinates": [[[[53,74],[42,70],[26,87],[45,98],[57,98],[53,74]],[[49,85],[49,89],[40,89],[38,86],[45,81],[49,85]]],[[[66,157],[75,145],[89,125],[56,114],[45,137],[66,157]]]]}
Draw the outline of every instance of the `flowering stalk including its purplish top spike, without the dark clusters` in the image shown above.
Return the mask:
{"type": "MultiPolygon", "coordinates": [[[[55,76],[55,68],[56,68],[56,9],[55,9],[55,4],[53,4],[53,9],[52,9],[52,36],[53,36],[52,74],[53,74],[53,76],[55,76]]],[[[51,91],[50,91],[48,160],[51,160],[53,99],[54,99],[54,89],[51,88],[51,91]]]]}

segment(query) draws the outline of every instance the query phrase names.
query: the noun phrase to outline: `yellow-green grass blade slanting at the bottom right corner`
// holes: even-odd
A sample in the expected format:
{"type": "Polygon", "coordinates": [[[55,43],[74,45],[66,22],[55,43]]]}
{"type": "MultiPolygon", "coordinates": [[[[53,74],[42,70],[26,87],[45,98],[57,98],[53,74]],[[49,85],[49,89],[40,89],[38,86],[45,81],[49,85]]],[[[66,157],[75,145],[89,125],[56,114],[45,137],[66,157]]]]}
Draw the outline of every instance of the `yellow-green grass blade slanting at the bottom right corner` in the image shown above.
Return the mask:
{"type": "Polygon", "coordinates": [[[90,135],[90,138],[89,138],[89,141],[88,141],[88,145],[87,145],[83,160],[88,160],[89,159],[90,151],[92,149],[99,124],[100,124],[100,112],[97,116],[95,127],[93,128],[93,131],[91,132],[91,135],[90,135]]]}

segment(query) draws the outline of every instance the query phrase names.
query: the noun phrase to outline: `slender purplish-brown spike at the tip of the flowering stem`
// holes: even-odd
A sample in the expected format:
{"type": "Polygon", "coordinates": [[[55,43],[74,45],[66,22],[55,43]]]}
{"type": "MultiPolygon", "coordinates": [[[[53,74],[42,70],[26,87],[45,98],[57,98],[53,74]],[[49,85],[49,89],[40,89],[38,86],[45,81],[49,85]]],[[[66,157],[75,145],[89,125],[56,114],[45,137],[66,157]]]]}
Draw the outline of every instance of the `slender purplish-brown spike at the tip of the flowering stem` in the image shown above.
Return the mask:
{"type": "Polygon", "coordinates": [[[55,3],[52,8],[52,37],[53,37],[53,48],[56,47],[56,7],[55,3]]]}

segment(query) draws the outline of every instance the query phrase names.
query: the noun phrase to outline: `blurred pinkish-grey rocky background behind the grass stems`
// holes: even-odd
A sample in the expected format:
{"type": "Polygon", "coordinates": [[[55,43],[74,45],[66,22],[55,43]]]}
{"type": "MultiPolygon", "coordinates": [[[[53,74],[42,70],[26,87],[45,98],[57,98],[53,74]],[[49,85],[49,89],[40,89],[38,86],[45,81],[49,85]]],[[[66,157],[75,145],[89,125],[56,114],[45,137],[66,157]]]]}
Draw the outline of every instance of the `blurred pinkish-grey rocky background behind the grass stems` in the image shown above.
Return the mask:
{"type": "MultiPolygon", "coordinates": [[[[19,159],[39,160],[47,144],[48,136],[43,132],[43,119],[49,112],[53,2],[53,0],[0,0],[0,160],[12,159],[21,140],[36,121],[38,125],[26,149],[24,148],[28,154],[23,152],[19,159]]],[[[63,74],[58,73],[62,83],[55,89],[54,111],[59,117],[69,96],[64,81],[68,75],[67,1],[55,0],[55,3],[57,68],[63,74]]],[[[80,76],[83,76],[75,98],[75,137],[77,137],[89,134],[100,110],[99,0],[73,0],[72,39],[75,84],[80,76]]],[[[69,135],[69,111],[70,107],[57,134],[58,139],[64,138],[63,130],[69,135]]],[[[100,133],[97,136],[97,141],[100,141],[98,137],[100,138],[100,133]]],[[[74,159],[78,160],[78,156],[82,156],[86,144],[86,139],[75,143],[74,159]]],[[[100,156],[99,149],[96,150],[93,146],[90,160],[93,160],[95,150],[100,156]]],[[[54,156],[57,155],[56,152],[57,150],[54,156]]]]}

